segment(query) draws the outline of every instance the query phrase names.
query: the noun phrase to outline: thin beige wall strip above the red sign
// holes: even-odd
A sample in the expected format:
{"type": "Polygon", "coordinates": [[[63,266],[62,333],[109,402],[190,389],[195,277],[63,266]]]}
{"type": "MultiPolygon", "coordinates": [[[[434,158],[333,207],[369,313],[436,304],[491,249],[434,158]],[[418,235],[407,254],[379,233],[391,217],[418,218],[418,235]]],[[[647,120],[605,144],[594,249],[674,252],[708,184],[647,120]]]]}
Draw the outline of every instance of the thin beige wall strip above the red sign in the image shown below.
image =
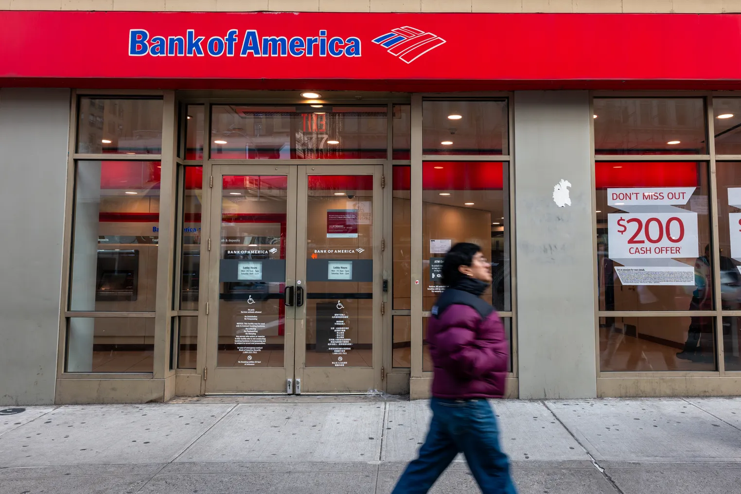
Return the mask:
{"type": "Polygon", "coordinates": [[[0,10],[738,13],[741,0],[0,0],[0,10]]]}

